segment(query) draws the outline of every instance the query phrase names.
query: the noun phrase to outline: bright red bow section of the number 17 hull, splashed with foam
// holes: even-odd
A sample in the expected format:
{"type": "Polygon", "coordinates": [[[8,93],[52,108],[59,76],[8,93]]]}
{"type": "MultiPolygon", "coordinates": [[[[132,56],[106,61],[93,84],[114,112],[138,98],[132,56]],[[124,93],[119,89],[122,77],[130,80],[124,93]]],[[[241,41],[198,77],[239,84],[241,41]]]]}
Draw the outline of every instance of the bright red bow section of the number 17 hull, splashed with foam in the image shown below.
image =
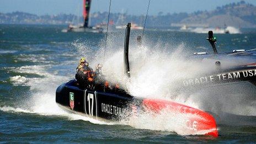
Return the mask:
{"type": "Polygon", "coordinates": [[[187,132],[186,134],[218,136],[214,117],[205,111],[158,99],[144,99],[143,106],[154,113],[170,111],[170,113],[175,113],[177,116],[182,117],[183,121],[178,123],[183,126],[183,129],[187,132]]]}

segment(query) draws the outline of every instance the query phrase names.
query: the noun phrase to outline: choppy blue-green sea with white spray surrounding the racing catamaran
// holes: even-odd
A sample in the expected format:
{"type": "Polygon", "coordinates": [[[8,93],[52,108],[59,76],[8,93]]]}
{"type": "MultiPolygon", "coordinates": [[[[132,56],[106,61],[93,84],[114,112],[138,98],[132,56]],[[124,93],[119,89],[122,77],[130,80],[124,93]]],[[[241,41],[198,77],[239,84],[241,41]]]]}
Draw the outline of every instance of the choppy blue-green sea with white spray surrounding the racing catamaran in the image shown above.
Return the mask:
{"type": "MultiPolygon", "coordinates": [[[[214,113],[216,119],[221,119],[217,123],[219,137],[184,135],[175,119],[163,125],[145,116],[140,122],[123,124],[63,111],[55,103],[55,90],[74,78],[79,58],[85,56],[93,68],[103,63],[107,76],[120,81],[124,46],[124,30],[110,32],[105,41],[105,34],[61,33],[63,28],[0,25],[0,142],[256,142],[253,86],[202,89],[192,94],[174,92],[180,77],[201,67],[190,60],[190,55],[212,51],[205,40],[207,34],[146,30],[143,48],[138,49],[135,39],[142,31],[132,31],[130,61],[134,80],[129,89],[137,97],[154,95],[214,113]]],[[[255,49],[255,36],[250,30],[244,34],[217,34],[217,49],[255,49]]]]}

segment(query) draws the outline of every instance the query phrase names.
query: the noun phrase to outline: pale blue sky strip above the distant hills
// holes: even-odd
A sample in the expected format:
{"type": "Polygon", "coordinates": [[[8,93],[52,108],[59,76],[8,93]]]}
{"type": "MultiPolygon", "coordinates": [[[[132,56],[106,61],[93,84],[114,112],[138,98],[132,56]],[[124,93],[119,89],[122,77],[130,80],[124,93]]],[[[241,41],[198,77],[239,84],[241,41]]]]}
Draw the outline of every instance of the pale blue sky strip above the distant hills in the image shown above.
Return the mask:
{"type": "MultiPolygon", "coordinates": [[[[107,12],[110,0],[92,0],[91,12],[107,12]]],[[[111,12],[145,15],[149,0],[111,0],[111,12]]],[[[241,0],[151,0],[149,15],[159,12],[179,13],[197,10],[214,10],[217,6],[241,0]]],[[[244,0],[256,6],[256,0],[244,0]]],[[[76,14],[82,15],[82,0],[0,0],[0,12],[27,12],[37,15],[76,14]]]]}

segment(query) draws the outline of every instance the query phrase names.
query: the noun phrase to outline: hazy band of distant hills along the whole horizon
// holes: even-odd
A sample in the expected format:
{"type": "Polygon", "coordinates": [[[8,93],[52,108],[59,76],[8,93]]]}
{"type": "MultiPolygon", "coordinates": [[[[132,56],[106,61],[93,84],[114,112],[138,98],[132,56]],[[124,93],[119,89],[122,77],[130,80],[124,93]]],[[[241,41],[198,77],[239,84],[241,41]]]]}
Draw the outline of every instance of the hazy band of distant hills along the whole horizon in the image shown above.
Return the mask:
{"type": "MultiPolygon", "coordinates": [[[[81,12],[82,13],[82,12],[81,12]]],[[[96,12],[90,14],[90,25],[106,22],[107,12],[96,12]]],[[[58,15],[35,15],[23,12],[0,13],[0,24],[61,24],[67,25],[74,19],[80,19],[73,14],[58,15]]],[[[143,25],[145,15],[129,15],[111,13],[110,19],[117,25],[124,25],[127,22],[134,22],[143,25]]],[[[167,13],[159,12],[158,15],[149,15],[147,19],[148,28],[168,28],[172,26],[210,26],[223,27],[235,26],[239,28],[256,28],[256,7],[244,1],[226,4],[211,11],[198,11],[194,13],[167,13]]]]}

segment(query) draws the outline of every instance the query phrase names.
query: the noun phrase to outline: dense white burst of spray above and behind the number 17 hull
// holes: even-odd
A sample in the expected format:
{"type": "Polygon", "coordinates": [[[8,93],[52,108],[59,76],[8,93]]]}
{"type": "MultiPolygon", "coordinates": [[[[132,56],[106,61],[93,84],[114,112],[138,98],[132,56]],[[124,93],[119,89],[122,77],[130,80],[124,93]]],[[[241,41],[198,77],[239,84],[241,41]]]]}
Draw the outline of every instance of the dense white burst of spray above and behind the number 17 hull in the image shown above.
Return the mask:
{"type": "Polygon", "coordinates": [[[195,61],[184,60],[182,56],[184,45],[177,47],[172,54],[148,50],[147,47],[137,50],[137,47],[130,52],[130,71],[131,79],[126,83],[124,79],[124,64],[122,61],[123,51],[117,51],[106,58],[103,70],[110,82],[121,82],[132,95],[137,97],[164,98],[175,95],[174,91],[178,88],[176,83],[181,79],[193,77],[195,74],[210,70],[213,64],[205,64],[195,61]],[[205,67],[202,70],[201,67],[205,67]],[[200,71],[199,71],[200,70],[200,71]]]}

